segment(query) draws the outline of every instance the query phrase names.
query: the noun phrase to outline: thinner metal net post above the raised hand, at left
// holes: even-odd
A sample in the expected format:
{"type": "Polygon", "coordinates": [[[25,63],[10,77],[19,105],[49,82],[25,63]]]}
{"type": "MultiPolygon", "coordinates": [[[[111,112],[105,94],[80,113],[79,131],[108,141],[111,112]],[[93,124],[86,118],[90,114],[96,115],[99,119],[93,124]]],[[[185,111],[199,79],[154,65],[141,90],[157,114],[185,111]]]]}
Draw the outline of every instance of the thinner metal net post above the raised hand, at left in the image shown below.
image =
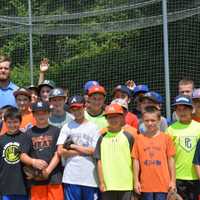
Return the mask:
{"type": "Polygon", "coordinates": [[[28,0],[28,16],[29,16],[29,64],[30,64],[30,82],[33,82],[33,38],[32,38],[32,10],[31,0],[28,0]]]}

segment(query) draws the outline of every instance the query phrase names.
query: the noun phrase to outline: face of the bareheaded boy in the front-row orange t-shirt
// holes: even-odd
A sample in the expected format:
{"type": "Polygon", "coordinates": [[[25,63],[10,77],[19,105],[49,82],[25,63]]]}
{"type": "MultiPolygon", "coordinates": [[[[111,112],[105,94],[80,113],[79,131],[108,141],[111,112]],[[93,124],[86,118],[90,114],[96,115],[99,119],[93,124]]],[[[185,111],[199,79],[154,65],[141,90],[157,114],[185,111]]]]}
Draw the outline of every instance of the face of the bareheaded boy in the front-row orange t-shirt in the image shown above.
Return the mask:
{"type": "Polygon", "coordinates": [[[155,133],[160,129],[160,118],[157,113],[144,113],[143,123],[149,133],[155,133]]]}

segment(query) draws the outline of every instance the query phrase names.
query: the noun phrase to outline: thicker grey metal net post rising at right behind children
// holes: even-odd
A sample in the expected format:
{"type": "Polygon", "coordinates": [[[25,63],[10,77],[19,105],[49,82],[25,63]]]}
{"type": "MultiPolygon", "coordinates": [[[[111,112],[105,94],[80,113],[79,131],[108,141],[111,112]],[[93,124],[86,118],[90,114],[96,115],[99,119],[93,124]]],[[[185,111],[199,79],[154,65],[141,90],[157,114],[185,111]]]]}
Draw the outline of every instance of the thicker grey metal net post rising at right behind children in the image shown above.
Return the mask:
{"type": "Polygon", "coordinates": [[[162,0],[166,115],[171,118],[167,0],[162,0]]]}

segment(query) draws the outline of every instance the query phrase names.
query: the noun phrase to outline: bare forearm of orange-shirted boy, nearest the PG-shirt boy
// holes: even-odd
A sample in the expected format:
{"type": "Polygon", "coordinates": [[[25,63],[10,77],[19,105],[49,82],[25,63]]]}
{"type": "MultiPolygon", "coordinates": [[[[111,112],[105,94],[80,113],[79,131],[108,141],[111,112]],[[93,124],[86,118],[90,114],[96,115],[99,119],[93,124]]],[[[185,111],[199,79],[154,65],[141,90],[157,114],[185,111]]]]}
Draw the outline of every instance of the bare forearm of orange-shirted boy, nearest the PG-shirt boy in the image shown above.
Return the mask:
{"type": "Polygon", "coordinates": [[[176,169],[175,169],[174,157],[172,156],[168,158],[168,167],[169,167],[169,172],[170,172],[169,188],[170,190],[174,191],[176,190],[176,169]]]}

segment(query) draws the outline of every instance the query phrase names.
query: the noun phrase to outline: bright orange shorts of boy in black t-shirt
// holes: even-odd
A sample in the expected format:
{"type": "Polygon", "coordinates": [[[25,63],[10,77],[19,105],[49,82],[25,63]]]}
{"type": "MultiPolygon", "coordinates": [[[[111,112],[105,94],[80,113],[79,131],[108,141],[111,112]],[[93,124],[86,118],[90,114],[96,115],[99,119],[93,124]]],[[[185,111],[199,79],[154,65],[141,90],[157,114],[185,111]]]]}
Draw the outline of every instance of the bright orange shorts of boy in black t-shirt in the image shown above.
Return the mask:
{"type": "Polygon", "coordinates": [[[31,200],[64,200],[62,184],[31,186],[31,200]]]}

